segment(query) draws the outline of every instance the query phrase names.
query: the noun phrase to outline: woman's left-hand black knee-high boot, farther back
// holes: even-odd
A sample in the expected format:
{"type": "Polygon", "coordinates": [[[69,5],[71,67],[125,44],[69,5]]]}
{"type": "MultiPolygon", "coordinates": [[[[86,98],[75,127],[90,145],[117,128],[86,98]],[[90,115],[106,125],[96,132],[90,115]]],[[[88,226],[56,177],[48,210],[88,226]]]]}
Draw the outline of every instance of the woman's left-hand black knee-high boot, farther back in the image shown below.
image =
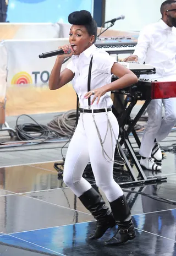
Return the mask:
{"type": "Polygon", "coordinates": [[[97,220],[95,233],[89,239],[98,239],[105,234],[109,227],[116,226],[112,212],[94,188],[87,190],[79,199],[97,220]]]}

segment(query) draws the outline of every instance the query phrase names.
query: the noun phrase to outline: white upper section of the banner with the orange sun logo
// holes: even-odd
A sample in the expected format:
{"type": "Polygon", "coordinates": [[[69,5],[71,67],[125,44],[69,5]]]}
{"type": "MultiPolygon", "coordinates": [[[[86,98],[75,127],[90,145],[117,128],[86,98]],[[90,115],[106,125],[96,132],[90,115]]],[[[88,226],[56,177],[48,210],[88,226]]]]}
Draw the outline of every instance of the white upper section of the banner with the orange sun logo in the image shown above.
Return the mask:
{"type": "Polygon", "coordinates": [[[8,52],[8,86],[47,84],[56,57],[40,59],[38,55],[57,50],[58,46],[65,43],[68,43],[68,39],[5,40],[4,46],[8,52]]]}

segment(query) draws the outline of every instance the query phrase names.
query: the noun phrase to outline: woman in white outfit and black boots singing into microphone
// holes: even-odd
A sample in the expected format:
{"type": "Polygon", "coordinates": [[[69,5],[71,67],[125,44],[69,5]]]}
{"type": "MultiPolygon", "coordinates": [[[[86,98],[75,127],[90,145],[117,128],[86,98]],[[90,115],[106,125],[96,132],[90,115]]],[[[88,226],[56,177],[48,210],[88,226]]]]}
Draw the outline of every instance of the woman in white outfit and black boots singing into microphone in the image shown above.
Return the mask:
{"type": "Polygon", "coordinates": [[[59,89],[72,81],[80,102],[80,118],[65,158],[63,179],[97,220],[95,233],[89,239],[102,237],[109,227],[117,224],[116,234],[105,244],[118,246],[135,238],[135,230],[124,193],[113,179],[114,151],[119,127],[111,110],[111,91],[138,83],[138,78],[107,52],[96,48],[94,43],[97,24],[89,12],[73,12],[68,21],[72,24],[70,45],[59,47],[65,54],[57,57],[49,81],[51,90],[59,89]],[[70,56],[72,61],[61,72],[64,59],[70,56]],[[112,74],[119,78],[113,83],[112,74]],[[96,184],[105,193],[112,211],[105,205],[100,194],[82,177],[89,161],[96,184]]]}

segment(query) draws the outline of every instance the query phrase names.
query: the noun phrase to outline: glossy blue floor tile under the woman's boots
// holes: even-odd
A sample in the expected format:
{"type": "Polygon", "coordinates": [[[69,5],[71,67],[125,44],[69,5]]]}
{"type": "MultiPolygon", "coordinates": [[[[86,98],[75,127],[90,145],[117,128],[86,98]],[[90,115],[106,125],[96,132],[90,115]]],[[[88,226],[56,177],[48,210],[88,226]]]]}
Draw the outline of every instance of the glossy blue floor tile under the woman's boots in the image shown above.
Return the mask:
{"type": "MultiPolygon", "coordinates": [[[[137,222],[140,223],[140,217],[137,222]]],[[[152,222],[155,226],[155,222],[152,222]]],[[[16,233],[13,236],[37,243],[45,248],[67,256],[175,256],[175,241],[136,230],[136,238],[119,247],[106,247],[103,242],[113,236],[116,229],[108,230],[103,238],[89,241],[87,237],[94,230],[94,222],[47,228],[30,232],[16,233]]]]}

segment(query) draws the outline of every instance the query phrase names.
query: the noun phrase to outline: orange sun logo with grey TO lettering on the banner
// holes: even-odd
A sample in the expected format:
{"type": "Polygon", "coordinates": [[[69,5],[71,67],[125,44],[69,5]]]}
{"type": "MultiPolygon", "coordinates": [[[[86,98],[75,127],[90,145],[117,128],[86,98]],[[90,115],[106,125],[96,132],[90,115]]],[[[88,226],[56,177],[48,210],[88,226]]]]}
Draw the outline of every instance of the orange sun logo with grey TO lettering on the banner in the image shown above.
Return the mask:
{"type": "Polygon", "coordinates": [[[33,71],[32,75],[30,75],[25,71],[22,71],[14,75],[14,77],[11,80],[11,84],[37,84],[40,82],[42,82],[43,84],[46,84],[49,78],[50,78],[50,73],[46,70],[42,72],[33,71]]]}

